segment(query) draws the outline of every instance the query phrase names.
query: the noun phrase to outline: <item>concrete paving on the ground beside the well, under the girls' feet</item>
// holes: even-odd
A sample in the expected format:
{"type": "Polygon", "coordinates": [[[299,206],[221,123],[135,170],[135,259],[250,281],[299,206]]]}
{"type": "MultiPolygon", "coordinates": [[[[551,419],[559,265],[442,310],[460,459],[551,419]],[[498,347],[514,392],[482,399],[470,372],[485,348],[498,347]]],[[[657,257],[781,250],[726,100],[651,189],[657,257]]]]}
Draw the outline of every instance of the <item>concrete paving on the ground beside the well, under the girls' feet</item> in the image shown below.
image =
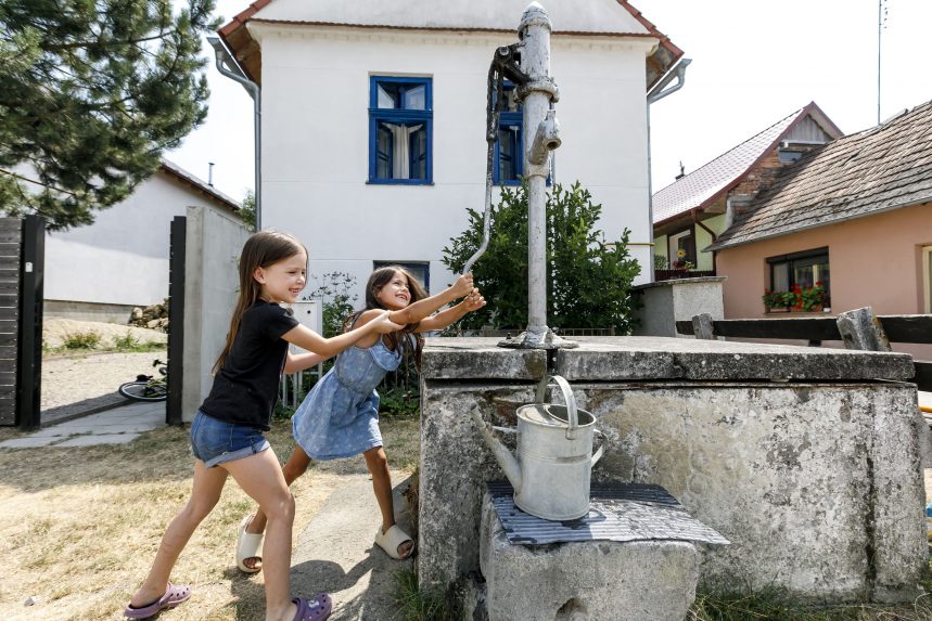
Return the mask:
{"type": "MultiPolygon", "coordinates": [[[[408,480],[397,482],[393,475],[393,481],[398,526],[411,533],[410,514],[401,497],[408,480]]],[[[395,574],[410,569],[412,561],[390,558],[375,545],[375,531],[381,526],[369,475],[347,476],[297,538],[292,555],[292,593],[305,597],[330,593],[333,621],[399,619],[395,574]]]]}

